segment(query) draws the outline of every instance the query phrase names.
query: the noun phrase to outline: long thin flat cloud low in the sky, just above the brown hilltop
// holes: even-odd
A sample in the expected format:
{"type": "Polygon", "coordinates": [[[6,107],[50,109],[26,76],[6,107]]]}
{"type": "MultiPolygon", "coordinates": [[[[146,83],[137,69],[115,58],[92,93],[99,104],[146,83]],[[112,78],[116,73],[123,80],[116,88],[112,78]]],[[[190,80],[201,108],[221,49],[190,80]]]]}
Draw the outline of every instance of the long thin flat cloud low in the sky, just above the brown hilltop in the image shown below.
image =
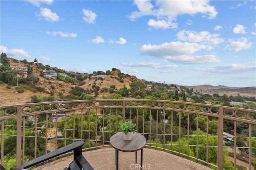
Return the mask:
{"type": "Polygon", "coordinates": [[[161,65],[161,63],[140,62],[140,63],[121,63],[123,66],[129,67],[151,67],[154,69],[170,69],[175,68],[177,65],[161,65]]]}

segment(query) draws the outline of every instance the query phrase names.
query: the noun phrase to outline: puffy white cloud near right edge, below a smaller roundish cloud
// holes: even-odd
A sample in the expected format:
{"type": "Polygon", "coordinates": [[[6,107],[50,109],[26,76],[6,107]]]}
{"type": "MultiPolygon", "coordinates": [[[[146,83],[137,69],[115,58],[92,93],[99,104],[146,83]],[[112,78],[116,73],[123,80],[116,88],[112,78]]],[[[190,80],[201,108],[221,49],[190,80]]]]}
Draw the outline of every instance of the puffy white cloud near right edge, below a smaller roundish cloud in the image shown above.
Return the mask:
{"type": "Polygon", "coordinates": [[[244,49],[250,49],[252,48],[252,43],[248,42],[247,38],[243,37],[241,39],[238,39],[237,41],[234,41],[232,39],[229,40],[228,45],[223,49],[224,51],[241,51],[244,49]]]}

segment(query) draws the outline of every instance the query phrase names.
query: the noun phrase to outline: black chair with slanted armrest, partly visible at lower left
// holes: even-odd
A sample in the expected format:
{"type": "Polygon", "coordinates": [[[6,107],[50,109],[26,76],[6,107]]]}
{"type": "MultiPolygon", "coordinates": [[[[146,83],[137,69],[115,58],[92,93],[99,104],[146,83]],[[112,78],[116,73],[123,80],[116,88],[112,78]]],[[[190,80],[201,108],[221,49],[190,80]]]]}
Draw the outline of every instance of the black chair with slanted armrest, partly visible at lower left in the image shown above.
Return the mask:
{"type": "MultiPolygon", "coordinates": [[[[32,167],[34,165],[40,164],[42,162],[45,162],[47,160],[50,160],[52,158],[55,158],[57,156],[60,156],[62,154],[68,153],[73,150],[74,154],[74,160],[69,164],[68,167],[64,168],[64,170],[94,170],[92,166],[89,164],[89,162],[84,158],[82,155],[82,146],[84,145],[84,141],[77,141],[75,143],[72,143],[70,145],[67,145],[65,147],[62,147],[60,149],[54,150],[52,152],[49,152],[47,154],[44,154],[34,160],[31,160],[21,166],[18,166],[16,168],[11,168],[11,170],[21,170],[26,169],[29,167],[32,167]]],[[[1,170],[6,170],[1,165],[1,170]]]]}

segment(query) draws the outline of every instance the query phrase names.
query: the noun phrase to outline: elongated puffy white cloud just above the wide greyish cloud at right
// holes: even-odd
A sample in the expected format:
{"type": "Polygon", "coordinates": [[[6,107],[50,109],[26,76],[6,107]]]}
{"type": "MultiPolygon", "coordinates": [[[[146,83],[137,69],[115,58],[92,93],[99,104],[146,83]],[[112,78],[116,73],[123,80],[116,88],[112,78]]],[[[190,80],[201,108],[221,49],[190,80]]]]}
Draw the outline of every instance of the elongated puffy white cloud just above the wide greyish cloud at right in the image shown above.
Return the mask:
{"type": "Polygon", "coordinates": [[[219,34],[210,34],[208,31],[186,31],[182,30],[177,33],[178,39],[189,42],[202,42],[207,44],[219,44],[224,42],[224,39],[219,38],[219,34]]]}

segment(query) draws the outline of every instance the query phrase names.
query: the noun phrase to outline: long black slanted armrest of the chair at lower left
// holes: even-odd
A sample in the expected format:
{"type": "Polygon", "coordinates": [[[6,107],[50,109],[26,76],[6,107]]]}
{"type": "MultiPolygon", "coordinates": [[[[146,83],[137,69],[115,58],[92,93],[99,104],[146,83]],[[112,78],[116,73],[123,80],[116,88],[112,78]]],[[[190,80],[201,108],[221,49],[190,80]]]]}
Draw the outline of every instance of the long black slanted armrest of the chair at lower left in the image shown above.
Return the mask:
{"type": "MultiPolygon", "coordinates": [[[[42,156],[39,156],[38,158],[35,158],[33,160],[30,160],[29,162],[17,167],[17,168],[29,168],[31,166],[40,164],[42,162],[45,162],[46,160],[50,160],[52,158],[55,158],[57,156],[60,156],[62,154],[68,153],[72,150],[81,149],[82,152],[82,146],[84,145],[84,141],[77,141],[75,143],[71,143],[65,147],[62,147],[60,149],[54,150],[52,152],[49,152],[47,154],[44,154],[42,156]]],[[[75,153],[74,153],[75,155],[75,153]]]]}

